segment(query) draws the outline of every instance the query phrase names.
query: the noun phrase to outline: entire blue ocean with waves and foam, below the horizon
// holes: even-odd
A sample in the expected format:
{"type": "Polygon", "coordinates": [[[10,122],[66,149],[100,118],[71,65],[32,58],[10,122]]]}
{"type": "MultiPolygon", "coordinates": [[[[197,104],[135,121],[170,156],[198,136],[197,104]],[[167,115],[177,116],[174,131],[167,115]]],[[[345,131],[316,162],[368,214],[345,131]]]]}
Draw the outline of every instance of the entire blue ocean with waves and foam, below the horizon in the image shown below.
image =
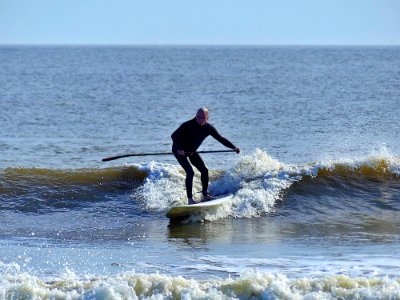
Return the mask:
{"type": "Polygon", "coordinates": [[[0,46],[0,299],[400,299],[399,104],[400,47],[0,46]],[[234,198],[170,222],[172,155],[102,159],[203,106],[234,198]]]}

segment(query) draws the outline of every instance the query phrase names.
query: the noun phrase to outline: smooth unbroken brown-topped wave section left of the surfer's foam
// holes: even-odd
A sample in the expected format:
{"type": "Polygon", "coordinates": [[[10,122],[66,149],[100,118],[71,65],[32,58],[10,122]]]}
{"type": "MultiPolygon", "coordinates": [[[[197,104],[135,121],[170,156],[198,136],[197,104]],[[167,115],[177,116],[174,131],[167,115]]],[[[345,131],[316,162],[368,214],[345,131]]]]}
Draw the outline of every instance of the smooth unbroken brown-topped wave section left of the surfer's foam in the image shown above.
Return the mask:
{"type": "Polygon", "coordinates": [[[136,168],[52,170],[7,168],[1,171],[0,208],[21,213],[74,209],[123,193],[143,180],[136,168]]]}

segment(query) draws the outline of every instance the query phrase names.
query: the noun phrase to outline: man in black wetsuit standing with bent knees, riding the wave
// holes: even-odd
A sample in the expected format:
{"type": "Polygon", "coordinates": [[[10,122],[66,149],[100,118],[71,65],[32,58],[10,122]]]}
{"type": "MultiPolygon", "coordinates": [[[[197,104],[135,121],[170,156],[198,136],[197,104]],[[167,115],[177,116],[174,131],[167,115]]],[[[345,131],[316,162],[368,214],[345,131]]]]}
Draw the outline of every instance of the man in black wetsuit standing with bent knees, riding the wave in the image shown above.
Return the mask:
{"type": "Polygon", "coordinates": [[[213,197],[208,194],[208,169],[204,164],[203,159],[196,152],[206,137],[211,135],[225,147],[234,149],[237,154],[240,153],[239,148],[233,145],[226,138],[222,137],[214,126],[207,121],[208,109],[206,107],[199,108],[193,119],[184,122],[171,135],[173,141],[172,152],[186,172],[185,185],[188,204],[195,203],[192,194],[194,171],[191,164],[201,173],[203,201],[213,199],[213,197]]]}

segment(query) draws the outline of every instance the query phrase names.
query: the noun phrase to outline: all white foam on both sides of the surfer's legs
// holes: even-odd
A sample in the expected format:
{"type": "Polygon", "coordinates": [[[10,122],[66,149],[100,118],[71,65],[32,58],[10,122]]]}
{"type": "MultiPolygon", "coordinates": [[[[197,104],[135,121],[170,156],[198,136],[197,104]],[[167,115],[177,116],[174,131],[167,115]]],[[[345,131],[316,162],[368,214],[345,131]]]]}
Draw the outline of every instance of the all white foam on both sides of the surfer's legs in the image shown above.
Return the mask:
{"type": "MultiPolygon", "coordinates": [[[[146,209],[165,211],[174,204],[186,201],[185,175],[180,166],[150,162],[136,167],[149,174],[134,195],[143,199],[146,209]]],[[[233,201],[214,212],[194,217],[192,221],[216,220],[228,216],[254,217],[268,213],[273,210],[280,193],[297,180],[290,173],[293,173],[291,167],[260,149],[249,155],[242,155],[221,177],[211,182],[209,187],[212,194],[235,194],[233,201]]],[[[194,190],[201,190],[199,177],[196,172],[194,190]]]]}

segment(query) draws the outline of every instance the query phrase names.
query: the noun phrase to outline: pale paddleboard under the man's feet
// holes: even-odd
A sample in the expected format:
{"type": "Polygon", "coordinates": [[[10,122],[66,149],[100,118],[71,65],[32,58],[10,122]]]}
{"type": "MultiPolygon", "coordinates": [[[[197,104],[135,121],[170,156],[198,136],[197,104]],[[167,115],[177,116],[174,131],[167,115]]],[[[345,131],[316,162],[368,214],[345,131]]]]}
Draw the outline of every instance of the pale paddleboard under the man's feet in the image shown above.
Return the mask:
{"type": "Polygon", "coordinates": [[[211,201],[199,202],[191,205],[188,204],[177,205],[171,207],[170,210],[168,210],[166,216],[170,219],[176,219],[176,218],[184,218],[184,217],[189,217],[191,215],[201,214],[202,212],[216,209],[218,206],[221,206],[231,201],[232,198],[233,195],[229,194],[229,195],[223,195],[211,201]]]}

